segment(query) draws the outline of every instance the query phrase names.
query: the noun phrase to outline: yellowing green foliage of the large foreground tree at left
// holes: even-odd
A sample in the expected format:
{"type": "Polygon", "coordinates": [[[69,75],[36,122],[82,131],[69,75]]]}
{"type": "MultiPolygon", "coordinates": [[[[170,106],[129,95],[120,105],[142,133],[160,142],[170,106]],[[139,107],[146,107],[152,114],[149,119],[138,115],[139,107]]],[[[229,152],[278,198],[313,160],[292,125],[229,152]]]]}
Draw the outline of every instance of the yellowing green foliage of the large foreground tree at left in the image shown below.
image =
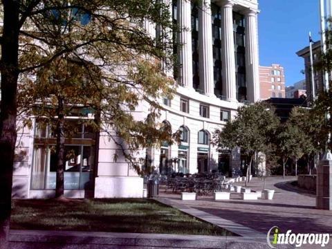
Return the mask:
{"type": "Polygon", "coordinates": [[[158,100],[172,99],[176,88],[165,74],[174,59],[169,5],[149,0],[40,3],[23,1],[21,6],[22,112],[54,126],[59,99],[64,116],[91,109],[95,119],[78,117],[108,133],[134,167],[136,150],[178,139],[156,122],[162,108],[158,100]],[[89,14],[89,21],[80,21],[83,14],[75,15],[77,10],[89,14]],[[147,34],[145,20],[162,31],[156,38],[147,34]],[[137,113],[148,112],[149,118],[138,118],[138,107],[145,107],[137,113]]]}

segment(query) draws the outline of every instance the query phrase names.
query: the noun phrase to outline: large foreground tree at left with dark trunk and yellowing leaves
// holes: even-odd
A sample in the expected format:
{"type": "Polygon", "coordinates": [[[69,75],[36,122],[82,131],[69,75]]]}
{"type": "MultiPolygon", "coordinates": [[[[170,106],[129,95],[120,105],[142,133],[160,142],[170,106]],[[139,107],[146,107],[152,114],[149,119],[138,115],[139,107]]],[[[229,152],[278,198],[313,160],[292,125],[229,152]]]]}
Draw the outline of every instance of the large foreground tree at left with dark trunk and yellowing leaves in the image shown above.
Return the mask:
{"type": "MultiPolygon", "coordinates": [[[[161,95],[170,97],[173,93],[172,80],[161,70],[162,65],[163,68],[172,67],[172,53],[169,51],[172,51],[173,45],[168,39],[169,34],[160,32],[156,39],[151,39],[141,25],[142,21],[149,19],[159,30],[172,28],[169,6],[166,4],[148,0],[3,0],[2,3],[1,249],[7,248],[6,235],[10,220],[12,170],[17,139],[18,83],[22,86],[32,84],[32,75],[40,72],[43,73],[39,76],[44,77],[56,75],[56,68],[53,68],[55,64],[66,64],[68,59],[75,61],[76,65],[85,68],[85,75],[89,75],[91,86],[94,84],[97,88],[100,82],[109,86],[107,91],[98,89],[98,101],[101,98],[109,101],[108,109],[104,109],[102,116],[103,124],[116,129],[117,135],[122,136],[126,142],[125,149],[129,149],[128,151],[146,145],[147,136],[151,133],[156,134],[157,138],[154,141],[149,140],[149,143],[165,140],[165,133],[160,133],[151,120],[158,118],[160,106],[156,100],[161,95]],[[95,68],[98,68],[98,71],[95,68]],[[96,72],[98,77],[94,77],[96,72]],[[149,120],[137,121],[133,119],[131,111],[142,101],[149,102],[151,113],[149,120]]],[[[73,72],[66,72],[63,68],[59,67],[59,75],[64,76],[67,73],[69,77],[53,77],[53,80],[57,83],[77,84],[77,75],[71,75],[73,72]]],[[[47,83],[47,80],[44,83],[47,83]]],[[[45,90],[48,92],[50,88],[45,90]]],[[[55,107],[63,104],[66,109],[69,104],[77,104],[73,99],[71,102],[64,102],[61,95],[57,97],[59,96],[56,100],[55,94],[50,97],[55,100],[52,104],[53,111],[58,111],[58,121],[62,120],[66,111],[62,112],[61,108],[55,107]]],[[[75,96],[71,95],[71,98],[75,96]]],[[[98,101],[93,104],[98,106],[98,101]]],[[[91,99],[86,98],[84,104],[91,104],[91,99]]],[[[58,122],[57,129],[59,144],[62,144],[61,140],[64,139],[63,133],[60,132],[61,123],[58,122]]],[[[58,151],[61,151],[61,148],[58,151]]],[[[135,164],[131,154],[126,156],[135,164]]]]}

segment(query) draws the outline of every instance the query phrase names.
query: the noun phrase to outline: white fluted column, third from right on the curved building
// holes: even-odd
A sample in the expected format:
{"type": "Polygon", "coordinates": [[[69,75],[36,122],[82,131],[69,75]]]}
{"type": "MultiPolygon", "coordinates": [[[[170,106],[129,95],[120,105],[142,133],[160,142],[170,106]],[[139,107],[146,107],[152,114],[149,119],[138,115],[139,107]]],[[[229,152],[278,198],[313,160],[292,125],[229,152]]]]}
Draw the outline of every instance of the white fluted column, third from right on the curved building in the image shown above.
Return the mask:
{"type": "Polygon", "coordinates": [[[214,95],[211,0],[199,9],[199,86],[205,95],[214,95]]]}

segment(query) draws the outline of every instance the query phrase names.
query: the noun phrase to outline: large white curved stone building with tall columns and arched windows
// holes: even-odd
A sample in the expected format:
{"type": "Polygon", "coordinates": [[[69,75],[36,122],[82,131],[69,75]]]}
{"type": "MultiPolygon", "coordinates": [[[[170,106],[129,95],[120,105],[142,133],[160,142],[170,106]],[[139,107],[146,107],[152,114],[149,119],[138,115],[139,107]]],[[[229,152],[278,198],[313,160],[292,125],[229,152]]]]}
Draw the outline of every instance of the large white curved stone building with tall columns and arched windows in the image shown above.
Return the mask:
{"type": "MultiPolygon", "coordinates": [[[[172,127],[172,132],[180,129],[181,143],[164,143],[160,149],[138,151],[138,156],[147,158],[162,175],[218,170],[237,176],[244,167],[238,149],[217,151],[210,139],[215,129],[222,129],[236,115],[243,102],[259,100],[258,2],[204,2],[200,6],[186,0],[172,4],[173,21],[181,28],[177,37],[182,46],[174,49],[181,67],[173,72],[178,82],[174,98],[160,100],[163,111],[159,122],[172,127]]],[[[158,30],[149,21],[145,22],[145,28],[151,35],[158,30]]],[[[136,110],[137,118],[146,117],[148,109],[149,105],[143,102],[136,110]]],[[[86,116],[89,118],[89,113],[86,116]]],[[[15,163],[16,197],[39,198],[55,193],[52,154],[38,147],[44,139],[39,135],[47,132],[39,131],[34,123],[33,129],[22,134],[26,153],[15,163]]],[[[113,160],[118,147],[108,139],[107,133],[82,134],[84,137],[79,139],[84,143],[68,145],[77,154],[77,161],[68,161],[65,195],[142,197],[142,178],[124,156],[113,160]],[[73,165],[78,166],[75,169],[73,165]]]]}

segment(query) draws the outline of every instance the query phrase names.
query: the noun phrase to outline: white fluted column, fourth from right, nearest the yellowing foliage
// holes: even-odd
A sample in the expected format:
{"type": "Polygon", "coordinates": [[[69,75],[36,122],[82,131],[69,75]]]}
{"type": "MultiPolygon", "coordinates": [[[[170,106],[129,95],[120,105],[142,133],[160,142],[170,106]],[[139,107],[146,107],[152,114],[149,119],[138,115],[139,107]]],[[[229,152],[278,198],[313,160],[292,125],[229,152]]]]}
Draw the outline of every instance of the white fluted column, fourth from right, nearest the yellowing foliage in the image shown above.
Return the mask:
{"type": "Polygon", "coordinates": [[[191,1],[178,0],[179,84],[192,88],[192,17],[191,1]]]}

